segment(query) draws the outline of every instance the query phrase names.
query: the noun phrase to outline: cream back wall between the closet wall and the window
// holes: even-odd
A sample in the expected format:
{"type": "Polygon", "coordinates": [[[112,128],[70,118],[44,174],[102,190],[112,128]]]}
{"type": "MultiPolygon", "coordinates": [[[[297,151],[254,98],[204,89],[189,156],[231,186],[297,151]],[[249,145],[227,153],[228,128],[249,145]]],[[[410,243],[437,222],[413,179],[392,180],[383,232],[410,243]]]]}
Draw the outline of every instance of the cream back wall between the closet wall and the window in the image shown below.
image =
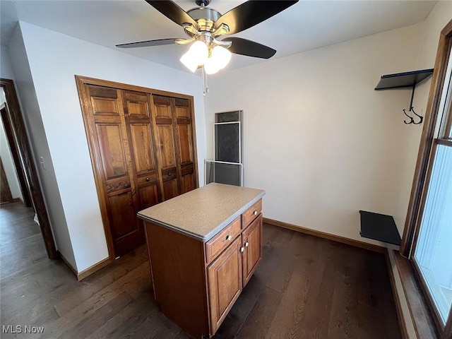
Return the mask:
{"type": "Polygon", "coordinates": [[[379,244],[359,237],[358,211],[369,210],[393,215],[401,234],[407,148],[417,148],[407,139],[419,127],[403,124],[410,90],[374,88],[383,74],[415,69],[421,28],[210,77],[206,124],[215,112],[244,110],[244,182],[267,191],[266,218],[379,244]]]}

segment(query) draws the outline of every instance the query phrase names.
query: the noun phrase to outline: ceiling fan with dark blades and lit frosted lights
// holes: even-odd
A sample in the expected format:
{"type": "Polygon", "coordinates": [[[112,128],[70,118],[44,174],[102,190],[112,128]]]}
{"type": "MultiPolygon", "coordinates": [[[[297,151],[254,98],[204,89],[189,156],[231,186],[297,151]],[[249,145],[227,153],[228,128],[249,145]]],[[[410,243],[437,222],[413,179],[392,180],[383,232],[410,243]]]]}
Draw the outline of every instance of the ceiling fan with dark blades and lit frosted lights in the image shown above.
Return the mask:
{"type": "Polygon", "coordinates": [[[131,42],[117,44],[117,47],[152,47],[193,42],[189,51],[182,55],[180,60],[192,72],[202,67],[207,74],[223,69],[229,63],[231,53],[262,59],[273,57],[276,50],[258,42],[241,37],[224,37],[221,40],[219,38],[251,28],[298,2],[298,0],[249,0],[222,15],[214,8],[207,7],[210,0],[196,0],[198,7],[189,11],[184,11],[174,1],[145,1],[174,23],[181,25],[189,37],[131,42]]]}

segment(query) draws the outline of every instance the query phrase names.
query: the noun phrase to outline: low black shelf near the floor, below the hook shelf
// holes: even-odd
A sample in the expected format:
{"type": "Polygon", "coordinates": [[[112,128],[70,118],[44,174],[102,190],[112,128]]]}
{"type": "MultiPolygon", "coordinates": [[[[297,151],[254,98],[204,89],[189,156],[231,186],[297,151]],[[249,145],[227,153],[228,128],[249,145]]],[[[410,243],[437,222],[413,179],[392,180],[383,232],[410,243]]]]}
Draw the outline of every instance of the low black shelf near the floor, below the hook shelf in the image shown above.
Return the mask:
{"type": "Polygon", "coordinates": [[[391,215],[367,212],[360,210],[361,215],[361,237],[379,240],[388,244],[400,246],[400,234],[396,222],[391,215]]]}

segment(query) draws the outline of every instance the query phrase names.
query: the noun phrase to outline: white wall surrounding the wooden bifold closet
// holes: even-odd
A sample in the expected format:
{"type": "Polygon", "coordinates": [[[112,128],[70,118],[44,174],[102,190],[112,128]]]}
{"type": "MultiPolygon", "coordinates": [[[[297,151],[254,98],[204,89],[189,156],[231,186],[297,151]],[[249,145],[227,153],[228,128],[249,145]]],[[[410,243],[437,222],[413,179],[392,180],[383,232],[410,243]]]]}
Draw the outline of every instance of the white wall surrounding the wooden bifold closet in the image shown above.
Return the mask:
{"type": "Polygon", "coordinates": [[[81,272],[108,253],[74,75],[193,95],[201,183],[206,157],[202,81],[189,73],[29,23],[20,22],[20,30],[76,268],[81,272]]]}

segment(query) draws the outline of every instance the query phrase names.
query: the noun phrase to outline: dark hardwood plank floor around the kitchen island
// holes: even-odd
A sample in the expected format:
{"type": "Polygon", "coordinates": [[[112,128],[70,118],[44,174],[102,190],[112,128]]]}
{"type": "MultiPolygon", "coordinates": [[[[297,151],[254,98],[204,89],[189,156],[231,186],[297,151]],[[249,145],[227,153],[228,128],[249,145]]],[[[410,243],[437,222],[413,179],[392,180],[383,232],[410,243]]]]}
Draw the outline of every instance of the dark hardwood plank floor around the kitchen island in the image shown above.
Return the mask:
{"type": "MultiPolygon", "coordinates": [[[[47,258],[33,215],[21,203],[0,208],[1,330],[44,333],[1,338],[188,338],[153,302],[145,246],[78,282],[47,258]]],[[[214,338],[401,338],[382,254],[270,225],[263,242],[214,338]]]]}

